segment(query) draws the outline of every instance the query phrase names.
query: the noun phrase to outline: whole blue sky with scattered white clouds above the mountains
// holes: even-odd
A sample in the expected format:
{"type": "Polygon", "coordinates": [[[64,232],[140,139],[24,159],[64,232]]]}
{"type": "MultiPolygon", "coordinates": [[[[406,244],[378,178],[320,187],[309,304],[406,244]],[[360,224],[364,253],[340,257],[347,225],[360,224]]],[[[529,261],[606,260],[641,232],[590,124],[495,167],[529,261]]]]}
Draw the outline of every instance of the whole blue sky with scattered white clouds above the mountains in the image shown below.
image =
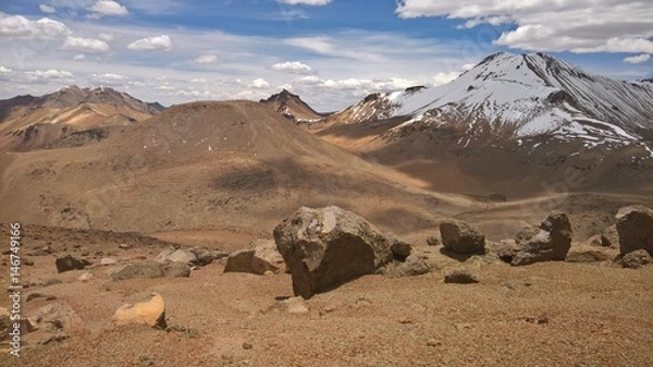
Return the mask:
{"type": "Polygon", "coordinates": [[[546,52],[653,77],[651,0],[2,0],[0,98],[110,86],[165,106],[267,98],[319,111],[546,52]]]}

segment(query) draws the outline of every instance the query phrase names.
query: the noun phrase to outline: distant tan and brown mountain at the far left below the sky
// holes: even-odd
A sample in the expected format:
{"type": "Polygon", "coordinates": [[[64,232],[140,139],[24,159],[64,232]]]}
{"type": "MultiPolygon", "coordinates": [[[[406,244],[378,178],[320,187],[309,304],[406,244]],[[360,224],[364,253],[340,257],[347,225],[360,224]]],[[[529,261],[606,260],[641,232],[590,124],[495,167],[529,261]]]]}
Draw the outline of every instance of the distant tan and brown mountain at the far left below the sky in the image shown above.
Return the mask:
{"type": "Polygon", "coordinates": [[[162,109],[104,86],[0,100],[0,150],[42,148],[86,130],[134,124],[162,109]]]}

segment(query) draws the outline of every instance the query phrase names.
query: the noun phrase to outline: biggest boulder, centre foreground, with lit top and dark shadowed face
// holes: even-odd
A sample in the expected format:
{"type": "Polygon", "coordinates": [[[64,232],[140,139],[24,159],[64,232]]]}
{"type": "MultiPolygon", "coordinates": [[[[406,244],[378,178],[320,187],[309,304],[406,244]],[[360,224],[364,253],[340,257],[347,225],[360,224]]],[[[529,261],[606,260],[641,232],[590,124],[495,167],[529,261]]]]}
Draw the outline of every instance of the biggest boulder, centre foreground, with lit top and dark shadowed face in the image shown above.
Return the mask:
{"type": "Polygon", "coordinates": [[[295,295],[309,298],[392,261],[391,244],[358,215],[330,206],[301,207],[274,229],[295,295]]]}

